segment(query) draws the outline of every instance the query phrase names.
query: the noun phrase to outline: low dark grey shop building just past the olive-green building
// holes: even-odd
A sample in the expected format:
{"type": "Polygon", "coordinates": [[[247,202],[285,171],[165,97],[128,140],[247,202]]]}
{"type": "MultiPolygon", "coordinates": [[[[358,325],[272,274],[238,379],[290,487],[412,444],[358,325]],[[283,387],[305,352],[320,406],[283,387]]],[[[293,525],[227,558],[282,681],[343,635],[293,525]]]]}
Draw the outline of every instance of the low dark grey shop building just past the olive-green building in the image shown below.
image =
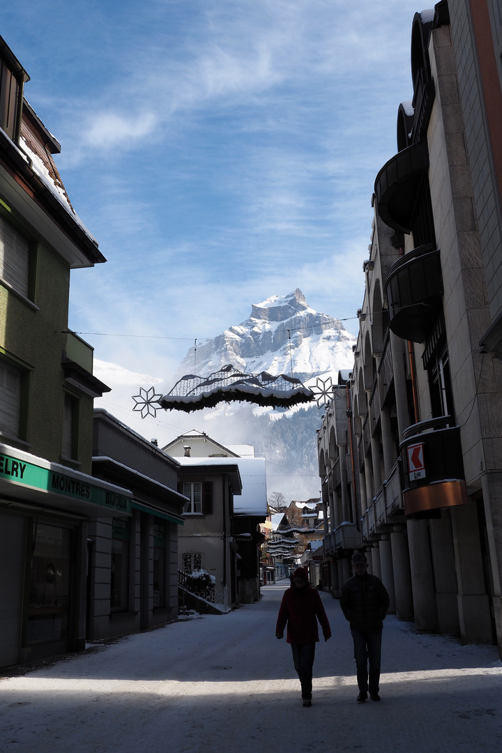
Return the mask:
{"type": "Polygon", "coordinates": [[[179,463],[107,411],[94,410],[93,476],[125,486],[131,515],[88,526],[87,638],[135,633],[178,617],[179,463]]]}

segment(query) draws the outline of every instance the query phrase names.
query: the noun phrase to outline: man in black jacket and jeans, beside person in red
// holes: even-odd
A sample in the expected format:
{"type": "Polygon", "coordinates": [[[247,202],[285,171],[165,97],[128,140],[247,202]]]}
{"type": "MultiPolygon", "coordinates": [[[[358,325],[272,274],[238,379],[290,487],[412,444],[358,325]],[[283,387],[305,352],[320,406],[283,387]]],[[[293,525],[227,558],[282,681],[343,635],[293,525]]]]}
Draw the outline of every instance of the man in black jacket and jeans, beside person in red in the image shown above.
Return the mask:
{"type": "Polygon", "coordinates": [[[354,659],[357,669],[357,703],[364,703],[370,691],[372,701],[379,701],[380,655],[382,653],[383,620],[389,605],[385,586],[376,575],[367,572],[366,555],[352,556],[353,578],[343,584],[340,606],[345,619],[351,623],[354,640],[354,659]],[[370,672],[368,682],[368,660],[370,672]]]}

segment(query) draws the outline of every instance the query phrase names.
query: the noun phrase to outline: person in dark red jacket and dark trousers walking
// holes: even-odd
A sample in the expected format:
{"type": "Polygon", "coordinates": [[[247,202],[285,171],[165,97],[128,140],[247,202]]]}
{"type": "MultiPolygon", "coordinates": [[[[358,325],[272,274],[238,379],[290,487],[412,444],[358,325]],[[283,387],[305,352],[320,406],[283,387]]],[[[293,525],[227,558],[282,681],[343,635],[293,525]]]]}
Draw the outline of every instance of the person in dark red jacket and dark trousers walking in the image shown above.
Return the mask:
{"type": "Polygon", "coordinates": [[[319,640],[317,620],[321,623],[324,640],[327,641],[331,637],[331,629],[321,596],[318,590],[310,586],[305,570],[299,567],[294,572],[291,587],[284,591],[275,626],[275,637],[284,637],[284,627],[287,623],[286,640],[291,644],[294,668],[300,678],[303,706],[312,706],[312,666],[315,644],[319,640]]]}

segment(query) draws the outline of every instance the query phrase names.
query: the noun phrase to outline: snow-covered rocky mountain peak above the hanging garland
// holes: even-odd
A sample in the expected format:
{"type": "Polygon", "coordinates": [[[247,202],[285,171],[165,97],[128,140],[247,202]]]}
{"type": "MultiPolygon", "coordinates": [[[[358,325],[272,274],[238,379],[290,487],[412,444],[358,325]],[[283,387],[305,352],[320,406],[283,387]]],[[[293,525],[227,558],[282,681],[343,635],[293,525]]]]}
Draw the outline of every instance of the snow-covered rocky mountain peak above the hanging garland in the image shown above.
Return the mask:
{"type": "Polygon", "coordinates": [[[297,288],[252,304],[251,316],[223,334],[190,348],[178,370],[208,376],[225,364],[239,371],[286,373],[303,383],[350,368],[353,335],[337,319],[312,309],[297,288]]]}

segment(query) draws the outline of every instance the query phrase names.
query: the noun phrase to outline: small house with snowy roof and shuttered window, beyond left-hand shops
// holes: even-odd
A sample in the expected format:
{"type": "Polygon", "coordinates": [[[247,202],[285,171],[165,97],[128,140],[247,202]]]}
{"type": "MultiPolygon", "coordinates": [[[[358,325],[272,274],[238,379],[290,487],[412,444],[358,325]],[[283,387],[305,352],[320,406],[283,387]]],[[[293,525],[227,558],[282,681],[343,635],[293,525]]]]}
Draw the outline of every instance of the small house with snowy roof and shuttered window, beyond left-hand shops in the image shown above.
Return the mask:
{"type": "MultiPolygon", "coordinates": [[[[241,446],[242,447],[242,446],[241,446]]],[[[180,532],[179,568],[205,569],[228,605],[256,601],[260,591],[260,523],[266,520],[265,461],[242,458],[199,431],[182,434],[163,447],[181,465],[180,492],[186,495],[180,532]],[[220,543],[217,543],[220,542],[220,543]]]]}

